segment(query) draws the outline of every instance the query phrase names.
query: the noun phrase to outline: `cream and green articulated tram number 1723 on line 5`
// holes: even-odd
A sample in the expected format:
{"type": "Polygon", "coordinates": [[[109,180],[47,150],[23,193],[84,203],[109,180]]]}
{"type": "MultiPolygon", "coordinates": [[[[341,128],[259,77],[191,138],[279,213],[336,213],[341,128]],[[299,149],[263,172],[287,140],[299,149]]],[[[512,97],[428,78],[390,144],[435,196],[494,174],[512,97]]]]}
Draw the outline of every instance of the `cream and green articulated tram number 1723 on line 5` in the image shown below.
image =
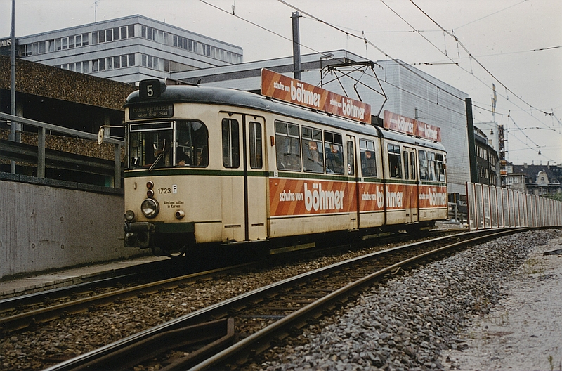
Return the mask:
{"type": "Polygon", "coordinates": [[[126,247],[271,254],[447,219],[440,143],[157,79],[127,98],[125,122],[126,247]]]}

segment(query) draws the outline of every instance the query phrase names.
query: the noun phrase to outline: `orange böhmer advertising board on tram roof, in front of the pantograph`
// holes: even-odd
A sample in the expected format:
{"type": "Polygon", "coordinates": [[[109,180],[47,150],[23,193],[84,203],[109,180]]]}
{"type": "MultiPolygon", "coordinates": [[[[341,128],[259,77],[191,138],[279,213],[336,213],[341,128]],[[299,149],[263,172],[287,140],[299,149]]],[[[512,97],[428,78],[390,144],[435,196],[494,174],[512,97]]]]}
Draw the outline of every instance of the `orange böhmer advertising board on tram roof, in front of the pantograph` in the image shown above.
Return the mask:
{"type": "Polygon", "coordinates": [[[261,94],[332,115],[371,123],[371,106],[367,103],[340,96],[265,68],[261,69],[261,94]]]}

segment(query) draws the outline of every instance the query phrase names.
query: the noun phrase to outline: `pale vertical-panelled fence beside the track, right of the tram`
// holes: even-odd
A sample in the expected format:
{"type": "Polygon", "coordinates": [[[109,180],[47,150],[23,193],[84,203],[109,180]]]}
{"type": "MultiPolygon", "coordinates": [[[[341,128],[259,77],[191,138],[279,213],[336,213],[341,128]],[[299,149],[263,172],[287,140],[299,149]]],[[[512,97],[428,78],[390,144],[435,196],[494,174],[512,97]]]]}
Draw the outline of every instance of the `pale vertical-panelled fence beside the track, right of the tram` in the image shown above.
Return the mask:
{"type": "Polygon", "coordinates": [[[562,225],[562,202],[507,188],[466,183],[469,229],[562,225]]]}

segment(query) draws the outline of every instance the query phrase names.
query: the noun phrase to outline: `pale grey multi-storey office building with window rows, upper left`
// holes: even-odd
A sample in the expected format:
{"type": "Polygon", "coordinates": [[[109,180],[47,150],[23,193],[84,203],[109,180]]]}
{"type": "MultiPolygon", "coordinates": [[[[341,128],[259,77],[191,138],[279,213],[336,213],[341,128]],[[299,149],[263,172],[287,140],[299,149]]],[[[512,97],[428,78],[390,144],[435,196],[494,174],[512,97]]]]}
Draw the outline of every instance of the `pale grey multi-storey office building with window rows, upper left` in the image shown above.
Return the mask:
{"type": "Polygon", "coordinates": [[[17,44],[22,59],[125,83],[243,61],[239,46],[142,15],[18,37],[17,44]]]}

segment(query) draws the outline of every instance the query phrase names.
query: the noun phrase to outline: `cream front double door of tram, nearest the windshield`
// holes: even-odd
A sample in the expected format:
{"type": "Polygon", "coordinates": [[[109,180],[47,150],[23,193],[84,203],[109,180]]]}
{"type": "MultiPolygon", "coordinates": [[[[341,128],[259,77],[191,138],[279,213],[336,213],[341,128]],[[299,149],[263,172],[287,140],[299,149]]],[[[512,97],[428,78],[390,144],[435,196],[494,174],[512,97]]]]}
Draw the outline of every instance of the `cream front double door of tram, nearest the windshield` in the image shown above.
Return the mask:
{"type": "Polygon", "coordinates": [[[264,239],[263,117],[221,112],[223,242],[264,239]]]}

